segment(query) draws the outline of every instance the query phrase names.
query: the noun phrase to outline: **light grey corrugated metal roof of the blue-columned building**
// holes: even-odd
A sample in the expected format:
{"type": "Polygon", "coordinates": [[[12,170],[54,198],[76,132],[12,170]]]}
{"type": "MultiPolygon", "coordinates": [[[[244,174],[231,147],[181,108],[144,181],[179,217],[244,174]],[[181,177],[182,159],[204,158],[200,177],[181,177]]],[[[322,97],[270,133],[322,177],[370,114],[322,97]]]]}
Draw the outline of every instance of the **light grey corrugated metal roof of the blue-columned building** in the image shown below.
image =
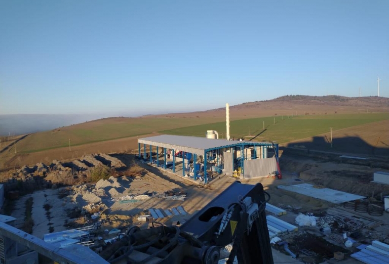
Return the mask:
{"type": "MultiPolygon", "coordinates": [[[[176,151],[184,151],[192,154],[204,155],[205,150],[229,148],[241,145],[242,141],[228,141],[225,139],[207,139],[200,137],[160,135],[138,139],[138,143],[158,146],[176,151]]],[[[247,142],[246,142],[247,143],[247,142]]],[[[253,144],[254,142],[250,142],[253,144]]]]}

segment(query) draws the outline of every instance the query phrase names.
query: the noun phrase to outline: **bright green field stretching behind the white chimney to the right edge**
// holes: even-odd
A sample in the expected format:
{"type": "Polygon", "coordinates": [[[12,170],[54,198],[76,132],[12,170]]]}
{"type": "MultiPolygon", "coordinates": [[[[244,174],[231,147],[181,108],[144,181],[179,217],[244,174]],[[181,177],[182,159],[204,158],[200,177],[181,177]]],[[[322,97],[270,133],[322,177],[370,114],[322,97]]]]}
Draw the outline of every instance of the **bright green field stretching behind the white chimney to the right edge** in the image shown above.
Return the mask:
{"type": "MultiPolygon", "coordinates": [[[[256,141],[285,143],[333,130],[389,119],[389,113],[275,116],[230,121],[230,137],[254,138],[256,141]],[[274,124],[274,120],[276,123],[274,124]],[[263,121],[265,129],[263,129],[263,121]],[[250,127],[250,136],[249,136],[250,127]]],[[[225,138],[225,122],[187,126],[159,131],[161,134],[205,137],[207,130],[216,130],[225,138]]]]}

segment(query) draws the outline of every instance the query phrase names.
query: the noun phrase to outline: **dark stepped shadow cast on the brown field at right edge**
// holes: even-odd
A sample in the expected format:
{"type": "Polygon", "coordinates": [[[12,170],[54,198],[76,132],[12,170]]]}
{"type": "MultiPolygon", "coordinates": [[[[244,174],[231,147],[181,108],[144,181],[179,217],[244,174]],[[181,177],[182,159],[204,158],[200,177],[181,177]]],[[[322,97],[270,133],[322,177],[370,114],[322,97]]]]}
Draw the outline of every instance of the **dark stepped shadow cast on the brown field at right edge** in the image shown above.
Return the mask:
{"type": "MultiPolygon", "coordinates": [[[[377,140],[385,146],[388,146],[386,143],[377,140]]],[[[359,137],[347,136],[344,138],[335,138],[331,141],[326,136],[316,136],[313,137],[312,141],[306,142],[294,142],[287,145],[288,148],[298,148],[306,151],[308,154],[310,151],[323,151],[323,152],[342,152],[345,154],[359,154],[365,156],[374,156],[374,157],[389,157],[389,146],[377,147],[367,143],[359,137]]]]}

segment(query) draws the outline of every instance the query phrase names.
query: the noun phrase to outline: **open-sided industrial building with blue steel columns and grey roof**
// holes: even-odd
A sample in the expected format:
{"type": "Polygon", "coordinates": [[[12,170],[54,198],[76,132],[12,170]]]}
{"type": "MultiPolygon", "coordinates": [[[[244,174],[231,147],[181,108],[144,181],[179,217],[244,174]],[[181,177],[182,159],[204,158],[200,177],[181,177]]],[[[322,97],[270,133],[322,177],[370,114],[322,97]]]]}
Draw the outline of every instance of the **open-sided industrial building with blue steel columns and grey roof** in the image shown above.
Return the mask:
{"type": "Polygon", "coordinates": [[[183,176],[192,172],[193,180],[203,177],[204,183],[209,181],[207,170],[226,174],[239,170],[242,179],[279,172],[278,144],[269,142],[160,135],[138,139],[138,156],[173,172],[180,164],[183,176]]]}

